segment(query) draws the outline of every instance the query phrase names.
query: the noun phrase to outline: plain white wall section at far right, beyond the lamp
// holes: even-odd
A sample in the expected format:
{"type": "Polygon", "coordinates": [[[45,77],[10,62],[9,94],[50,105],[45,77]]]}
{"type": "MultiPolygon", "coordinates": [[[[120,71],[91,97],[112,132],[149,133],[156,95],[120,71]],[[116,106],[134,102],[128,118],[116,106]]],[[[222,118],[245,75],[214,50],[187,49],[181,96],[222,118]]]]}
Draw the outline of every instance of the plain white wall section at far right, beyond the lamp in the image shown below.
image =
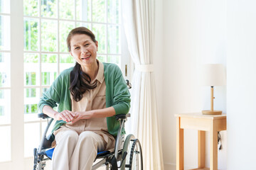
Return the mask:
{"type": "Polygon", "coordinates": [[[227,1],[228,169],[256,169],[256,1],[227,1]]]}

